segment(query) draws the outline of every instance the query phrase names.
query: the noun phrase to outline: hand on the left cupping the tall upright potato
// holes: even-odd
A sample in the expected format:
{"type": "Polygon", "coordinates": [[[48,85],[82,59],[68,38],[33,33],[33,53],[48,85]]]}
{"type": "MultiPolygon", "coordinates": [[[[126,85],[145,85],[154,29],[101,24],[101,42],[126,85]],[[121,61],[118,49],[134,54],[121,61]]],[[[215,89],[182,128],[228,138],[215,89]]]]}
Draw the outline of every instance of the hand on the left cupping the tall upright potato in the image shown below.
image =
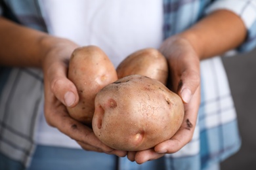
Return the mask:
{"type": "MultiPolygon", "coordinates": [[[[45,43],[49,43],[47,40],[45,43]]],[[[73,82],[68,80],[68,61],[77,44],[58,39],[42,59],[45,84],[45,118],[50,126],[68,135],[85,150],[125,156],[126,152],[114,150],[101,143],[93,129],[71,118],[66,107],[74,107],[79,95],[73,82]]]]}

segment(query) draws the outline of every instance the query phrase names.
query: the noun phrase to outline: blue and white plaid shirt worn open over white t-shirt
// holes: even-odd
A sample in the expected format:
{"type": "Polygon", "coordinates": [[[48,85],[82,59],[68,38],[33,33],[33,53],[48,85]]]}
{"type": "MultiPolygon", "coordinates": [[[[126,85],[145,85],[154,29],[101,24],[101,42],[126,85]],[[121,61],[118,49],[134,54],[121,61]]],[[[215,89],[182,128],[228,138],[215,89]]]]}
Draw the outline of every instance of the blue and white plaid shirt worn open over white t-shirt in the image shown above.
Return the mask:
{"type": "MultiPolygon", "coordinates": [[[[18,22],[47,31],[37,0],[5,2],[14,11],[18,22]]],[[[163,0],[165,38],[188,29],[205,14],[218,9],[238,14],[247,27],[247,39],[236,51],[253,49],[256,45],[255,0],[163,0]]],[[[0,6],[0,14],[3,11],[8,12],[0,6]]],[[[194,136],[179,152],[165,155],[167,169],[203,169],[211,163],[224,160],[240,148],[236,110],[221,58],[206,59],[200,66],[202,103],[194,136]]],[[[29,165],[36,146],[35,132],[43,101],[41,70],[0,67],[2,154],[29,165]]],[[[126,158],[119,159],[119,169],[137,168],[135,163],[126,158]]]]}

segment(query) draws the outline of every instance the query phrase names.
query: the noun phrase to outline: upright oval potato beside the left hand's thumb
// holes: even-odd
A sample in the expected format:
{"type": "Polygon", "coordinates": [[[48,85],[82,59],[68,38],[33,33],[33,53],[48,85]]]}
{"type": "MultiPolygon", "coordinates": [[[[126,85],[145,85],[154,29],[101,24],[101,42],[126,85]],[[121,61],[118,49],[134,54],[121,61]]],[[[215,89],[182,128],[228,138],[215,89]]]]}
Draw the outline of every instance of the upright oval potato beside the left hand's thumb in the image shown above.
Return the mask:
{"type": "Polygon", "coordinates": [[[91,125],[96,93],[117,80],[116,69],[100,48],[83,46],[72,54],[68,78],[74,82],[79,93],[79,103],[67,108],[68,112],[75,120],[91,125]]]}

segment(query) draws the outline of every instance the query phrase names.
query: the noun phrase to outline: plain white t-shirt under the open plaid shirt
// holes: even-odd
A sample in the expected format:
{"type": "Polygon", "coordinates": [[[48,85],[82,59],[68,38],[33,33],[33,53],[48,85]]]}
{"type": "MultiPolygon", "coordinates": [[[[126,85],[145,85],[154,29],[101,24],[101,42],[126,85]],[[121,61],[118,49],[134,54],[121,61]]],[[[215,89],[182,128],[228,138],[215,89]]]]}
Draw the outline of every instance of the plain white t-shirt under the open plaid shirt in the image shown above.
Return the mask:
{"type": "MultiPolygon", "coordinates": [[[[162,41],[163,7],[159,0],[41,0],[51,35],[81,46],[99,46],[115,67],[142,48],[158,48],[162,41]]],[[[41,114],[37,143],[80,148],[70,137],[47,125],[41,114]]]]}

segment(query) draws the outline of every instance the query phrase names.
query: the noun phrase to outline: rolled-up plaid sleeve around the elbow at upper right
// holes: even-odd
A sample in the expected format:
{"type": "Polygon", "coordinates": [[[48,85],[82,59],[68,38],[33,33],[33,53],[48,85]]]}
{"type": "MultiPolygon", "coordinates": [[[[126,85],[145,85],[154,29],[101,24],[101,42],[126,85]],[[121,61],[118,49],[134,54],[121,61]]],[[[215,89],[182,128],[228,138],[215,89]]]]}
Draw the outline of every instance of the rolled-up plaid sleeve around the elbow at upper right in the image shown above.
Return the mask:
{"type": "MultiPolygon", "coordinates": [[[[243,20],[247,28],[245,42],[236,50],[248,52],[256,46],[256,0],[222,0],[215,1],[207,9],[206,14],[215,10],[226,9],[234,12],[243,20]]],[[[234,28],[235,29],[235,28],[234,28]]]]}

